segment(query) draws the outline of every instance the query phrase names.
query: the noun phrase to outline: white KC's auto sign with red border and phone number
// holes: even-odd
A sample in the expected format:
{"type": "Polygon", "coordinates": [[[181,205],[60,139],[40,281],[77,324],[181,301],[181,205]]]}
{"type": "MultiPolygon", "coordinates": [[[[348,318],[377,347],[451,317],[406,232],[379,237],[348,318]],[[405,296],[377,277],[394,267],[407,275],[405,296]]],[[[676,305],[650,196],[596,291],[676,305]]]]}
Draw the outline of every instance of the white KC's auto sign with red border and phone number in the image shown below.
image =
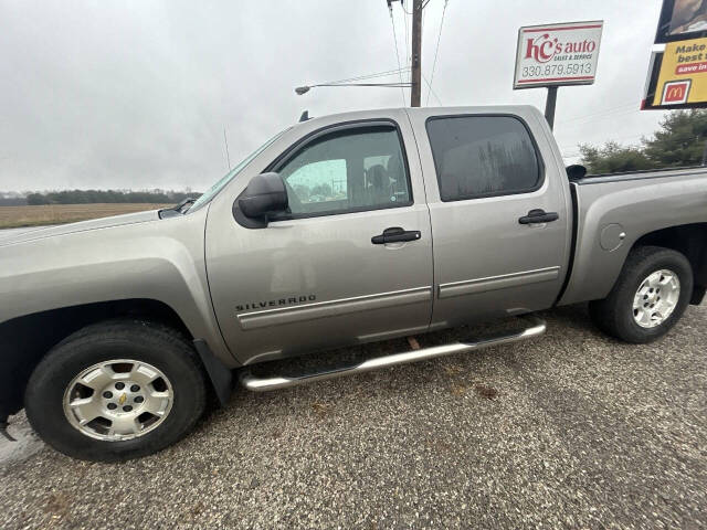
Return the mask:
{"type": "Polygon", "coordinates": [[[520,28],[514,88],[594,83],[603,25],[598,21],[520,28]]]}

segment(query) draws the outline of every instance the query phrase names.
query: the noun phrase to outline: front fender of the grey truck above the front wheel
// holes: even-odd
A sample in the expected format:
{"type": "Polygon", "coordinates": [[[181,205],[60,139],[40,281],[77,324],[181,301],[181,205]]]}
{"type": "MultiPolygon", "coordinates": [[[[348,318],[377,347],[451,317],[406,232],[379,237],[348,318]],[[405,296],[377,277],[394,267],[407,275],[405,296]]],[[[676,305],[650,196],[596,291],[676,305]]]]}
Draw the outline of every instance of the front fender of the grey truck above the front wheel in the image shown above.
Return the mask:
{"type": "Polygon", "coordinates": [[[208,209],[0,247],[0,322],[64,307],[147,298],[172,308],[228,365],[205,275],[208,209]]]}

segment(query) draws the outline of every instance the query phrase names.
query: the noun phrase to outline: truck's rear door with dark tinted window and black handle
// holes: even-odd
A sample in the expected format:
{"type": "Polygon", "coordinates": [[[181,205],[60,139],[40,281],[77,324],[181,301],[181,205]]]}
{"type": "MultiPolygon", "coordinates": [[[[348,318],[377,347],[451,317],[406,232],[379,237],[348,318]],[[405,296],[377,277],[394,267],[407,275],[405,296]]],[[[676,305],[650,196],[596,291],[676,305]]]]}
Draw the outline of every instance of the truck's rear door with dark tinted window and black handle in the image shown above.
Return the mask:
{"type": "Polygon", "coordinates": [[[432,328],[551,307],[571,210],[539,113],[410,114],[434,240],[432,328]]]}

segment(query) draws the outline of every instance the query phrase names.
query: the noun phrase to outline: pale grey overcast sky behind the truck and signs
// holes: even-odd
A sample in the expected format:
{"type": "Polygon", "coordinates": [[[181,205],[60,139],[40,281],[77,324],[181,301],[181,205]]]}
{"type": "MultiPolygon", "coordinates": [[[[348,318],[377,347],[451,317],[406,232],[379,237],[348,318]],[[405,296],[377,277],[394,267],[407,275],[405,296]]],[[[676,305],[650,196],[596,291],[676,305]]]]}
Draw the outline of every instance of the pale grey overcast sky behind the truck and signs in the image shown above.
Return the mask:
{"type": "MultiPolygon", "coordinates": [[[[443,7],[425,10],[428,78],[443,7]]],[[[597,84],[559,91],[558,141],[568,157],[578,142],[636,144],[662,117],[639,112],[659,8],[449,0],[434,93],[542,109],[545,89],[511,89],[518,28],[603,19],[597,84]]],[[[404,61],[398,2],[394,13],[404,61]]],[[[234,163],[304,109],[401,106],[393,88],[294,93],[397,68],[393,42],[386,0],[0,0],[0,190],[203,190],[226,170],[224,127],[234,163]]]]}

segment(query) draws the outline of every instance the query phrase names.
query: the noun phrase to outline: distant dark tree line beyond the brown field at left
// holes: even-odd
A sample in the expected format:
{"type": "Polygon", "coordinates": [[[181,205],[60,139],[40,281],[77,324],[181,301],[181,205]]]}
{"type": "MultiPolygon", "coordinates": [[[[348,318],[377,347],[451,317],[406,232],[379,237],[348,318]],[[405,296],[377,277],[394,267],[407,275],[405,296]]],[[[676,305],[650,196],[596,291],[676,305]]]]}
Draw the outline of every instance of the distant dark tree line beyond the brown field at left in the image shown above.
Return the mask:
{"type": "Polygon", "coordinates": [[[95,204],[95,203],[154,203],[181,202],[197,199],[201,193],[190,191],[130,191],[130,190],[63,190],[28,193],[27,204],[95,204]]]}

